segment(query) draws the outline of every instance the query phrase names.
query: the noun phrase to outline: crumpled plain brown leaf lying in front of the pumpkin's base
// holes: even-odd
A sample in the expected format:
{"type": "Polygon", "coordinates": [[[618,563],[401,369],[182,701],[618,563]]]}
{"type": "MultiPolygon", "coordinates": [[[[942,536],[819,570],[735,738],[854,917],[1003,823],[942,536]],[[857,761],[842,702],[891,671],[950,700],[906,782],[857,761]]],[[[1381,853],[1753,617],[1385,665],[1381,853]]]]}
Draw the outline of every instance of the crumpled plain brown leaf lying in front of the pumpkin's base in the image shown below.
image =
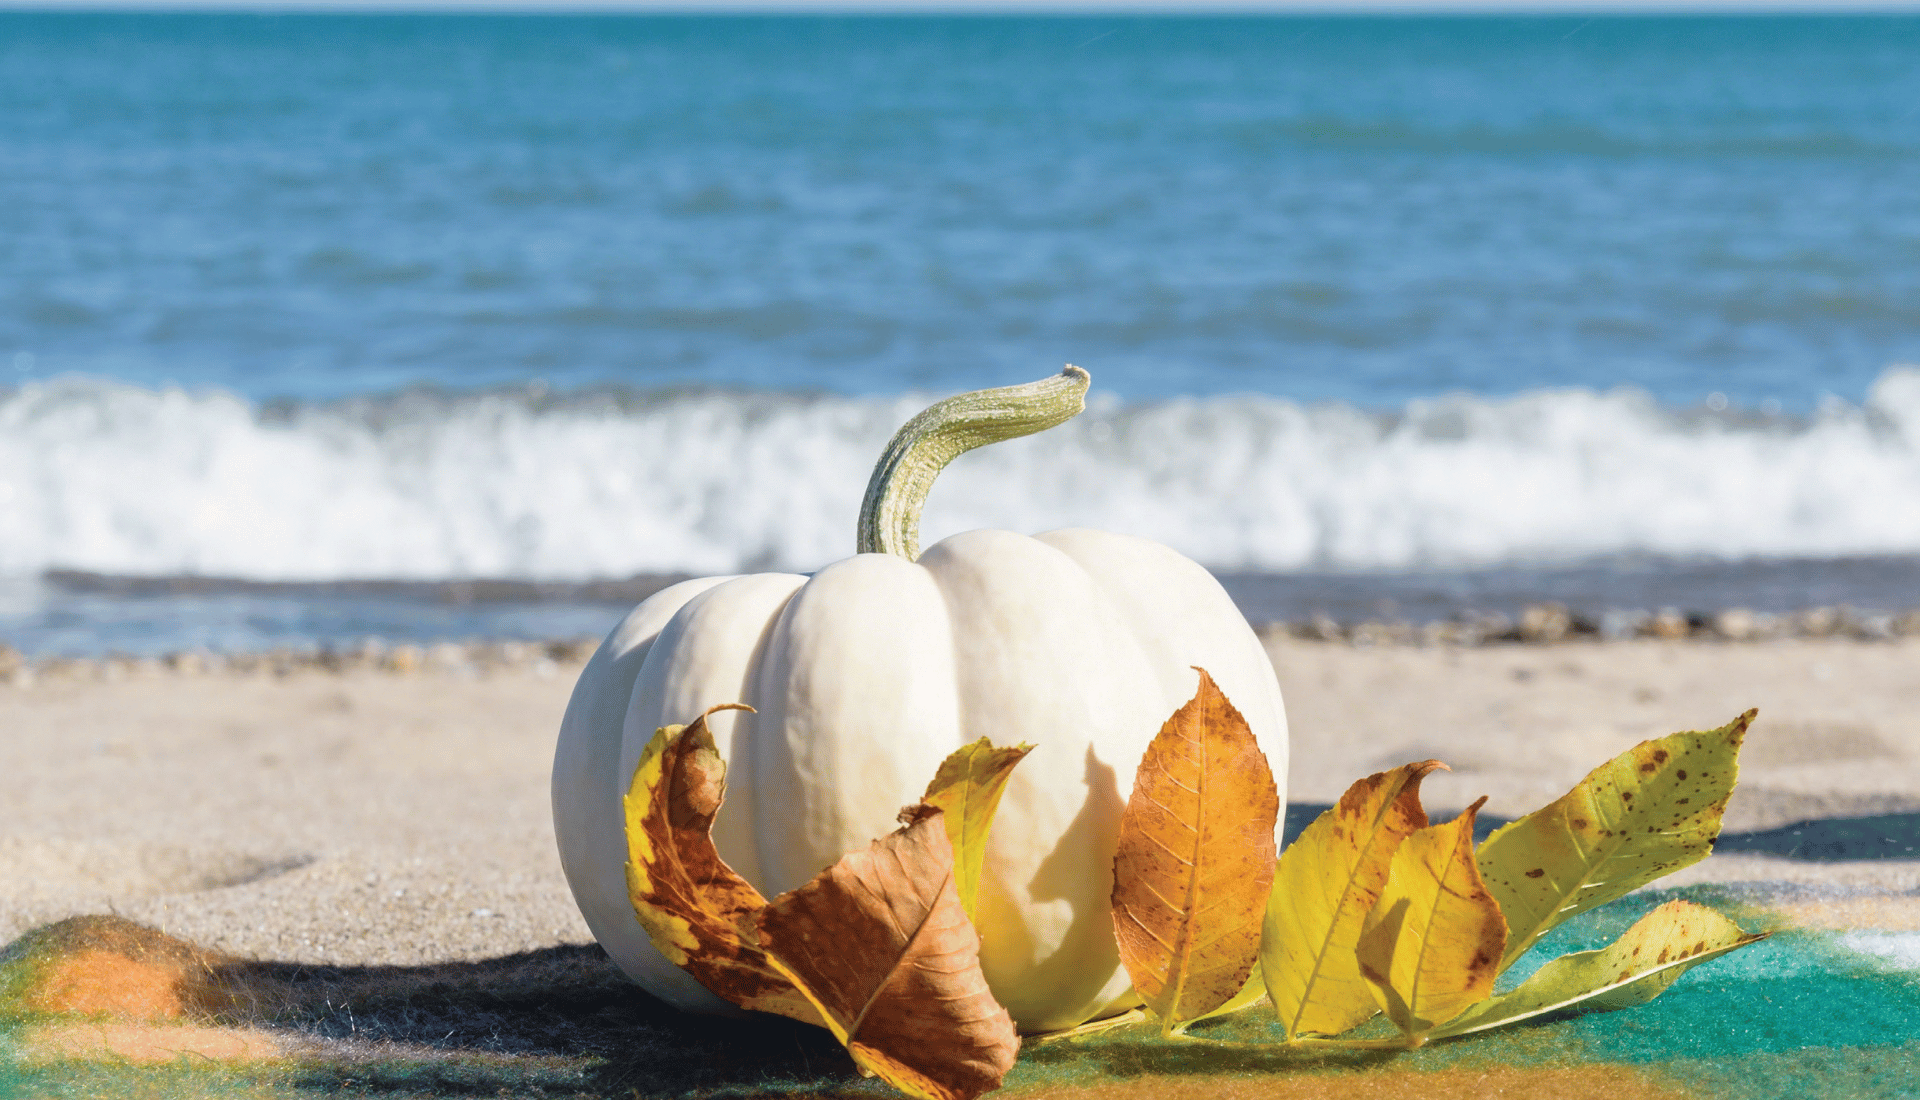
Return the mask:
{"type": "Polygon", "coordinates": [[[1000,1087],[1020,1035],[979,969],[941,818],[908,808],[899,831],[774,898],[758,935],[860,1067],[922,1100],[972,1100],[1000,1087]]]}

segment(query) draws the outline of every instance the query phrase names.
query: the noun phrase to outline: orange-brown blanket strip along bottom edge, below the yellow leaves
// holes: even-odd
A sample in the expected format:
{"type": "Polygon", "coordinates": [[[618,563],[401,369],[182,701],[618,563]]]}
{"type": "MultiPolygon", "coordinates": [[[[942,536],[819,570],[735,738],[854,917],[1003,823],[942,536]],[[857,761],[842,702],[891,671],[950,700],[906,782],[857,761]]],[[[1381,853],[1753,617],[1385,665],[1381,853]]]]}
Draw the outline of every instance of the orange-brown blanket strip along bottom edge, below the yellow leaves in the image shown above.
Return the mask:
{"type": "Polygon", "coordinates": [[[1617,1065],[1438,1069],[1315,1075],[1139,1077],[1020,1092],[1020,1100],[1690,1100],[1617,1065]]]}

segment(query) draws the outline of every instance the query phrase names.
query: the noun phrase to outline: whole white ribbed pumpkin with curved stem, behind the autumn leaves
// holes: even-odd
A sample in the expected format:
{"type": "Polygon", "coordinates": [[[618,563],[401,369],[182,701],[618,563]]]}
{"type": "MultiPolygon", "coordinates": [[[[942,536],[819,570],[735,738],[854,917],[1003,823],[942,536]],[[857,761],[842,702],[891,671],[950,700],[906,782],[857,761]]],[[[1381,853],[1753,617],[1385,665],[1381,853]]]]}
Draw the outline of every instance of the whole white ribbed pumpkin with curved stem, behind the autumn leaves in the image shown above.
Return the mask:
{"type": "Polygon", "coordinates": [[[720,576],[636,607],[593,655],[561,726],[553,822],[588,927],[649,992],[730,1006],[666,962],[626,897],[620,795],[660,726],[708,718],[728,758],[722,858],[764,895],[895,827],[939,762],[977,737],[1037,749],[1012,776],[981,877],[981,966],[1025,1031],[1133,1004],[1108,916],[1119,812],[1160,726],[1206,668],[1286,789],[1286,716],[1265,651],[1204,568],[1131,536],[979,530],[916,555],[954,455],[1079,413],[1087,374],[943,401],[895,438],[860,549],[812,578],[720,576]]]}

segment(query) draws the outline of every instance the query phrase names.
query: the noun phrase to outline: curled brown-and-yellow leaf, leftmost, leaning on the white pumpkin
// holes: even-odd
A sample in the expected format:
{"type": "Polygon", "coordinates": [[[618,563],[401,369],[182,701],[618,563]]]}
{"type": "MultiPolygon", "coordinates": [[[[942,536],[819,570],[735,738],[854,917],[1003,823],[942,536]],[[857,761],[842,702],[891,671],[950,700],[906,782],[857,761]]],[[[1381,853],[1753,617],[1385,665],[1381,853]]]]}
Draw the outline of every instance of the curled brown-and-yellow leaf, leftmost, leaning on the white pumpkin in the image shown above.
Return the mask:
{"type": "MultiPolygon", "coordinates": [[[[707,714],[714,710],[747,706],[714,706],[707,714]]],[[[655,731],[634,768],[622,801],[634,916],[653,946],[707,989],[741,1008],[824,1025],[812,1002],[753,941],[751,921],[766,898],[714,849],[726,760],[707,731],[707,714],[691,726],[655,731]]]]}

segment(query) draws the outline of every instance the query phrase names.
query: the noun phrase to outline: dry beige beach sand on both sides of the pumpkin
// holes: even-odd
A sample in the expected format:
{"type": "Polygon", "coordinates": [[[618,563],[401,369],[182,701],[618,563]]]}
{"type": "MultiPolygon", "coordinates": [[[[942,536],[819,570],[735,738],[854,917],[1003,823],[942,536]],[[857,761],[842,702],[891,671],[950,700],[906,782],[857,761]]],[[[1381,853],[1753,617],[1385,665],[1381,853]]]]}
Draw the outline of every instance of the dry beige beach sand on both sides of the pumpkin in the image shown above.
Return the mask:
{"type": "MultiPolygon", "coordinates": [[[[1920,639],[1415,649],[1275,639],[1288,795],[1438,756],[1526,812],[1644,737],[1761,708],[1730,829],[1920,810],[1920,639]]],[[[117,912],[240,956],[413,966],[588,943],[547,764],[578,664],[0,687],[0,943],[117,912]]],[[[1920,864],[1722,854],[1682,881],[1910,891],[1920,864]]]]}

